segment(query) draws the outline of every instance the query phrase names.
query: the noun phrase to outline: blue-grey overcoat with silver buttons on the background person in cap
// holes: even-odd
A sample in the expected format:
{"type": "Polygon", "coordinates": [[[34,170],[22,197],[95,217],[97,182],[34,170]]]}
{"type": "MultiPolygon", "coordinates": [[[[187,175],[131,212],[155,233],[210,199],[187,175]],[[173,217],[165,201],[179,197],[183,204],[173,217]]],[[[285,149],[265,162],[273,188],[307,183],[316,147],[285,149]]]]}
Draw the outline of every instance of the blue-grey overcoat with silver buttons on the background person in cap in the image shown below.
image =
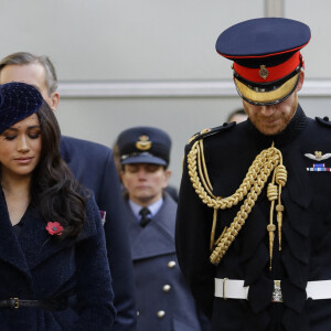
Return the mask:
{"type": "Polygon", "coordinates": [[[137,329],[200,331],[196,306],[175,256],[175,202],[164,193],[163,205],[143,228],[128,203],[127,209],[136,276],[137,329]]]}

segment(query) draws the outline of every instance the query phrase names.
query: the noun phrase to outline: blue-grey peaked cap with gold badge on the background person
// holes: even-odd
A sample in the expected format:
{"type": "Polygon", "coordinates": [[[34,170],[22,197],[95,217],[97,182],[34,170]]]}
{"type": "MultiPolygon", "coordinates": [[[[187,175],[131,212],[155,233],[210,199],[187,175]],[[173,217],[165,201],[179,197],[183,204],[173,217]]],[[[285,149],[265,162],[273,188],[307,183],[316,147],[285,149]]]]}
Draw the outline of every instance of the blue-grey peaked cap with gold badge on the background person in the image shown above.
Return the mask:
{"type": "Polygon", "coordinates": [[[122,131],[117,139],[121,164],[151,163],[168,166],[171,139],[152,127],[135,127],[122,131]]]}

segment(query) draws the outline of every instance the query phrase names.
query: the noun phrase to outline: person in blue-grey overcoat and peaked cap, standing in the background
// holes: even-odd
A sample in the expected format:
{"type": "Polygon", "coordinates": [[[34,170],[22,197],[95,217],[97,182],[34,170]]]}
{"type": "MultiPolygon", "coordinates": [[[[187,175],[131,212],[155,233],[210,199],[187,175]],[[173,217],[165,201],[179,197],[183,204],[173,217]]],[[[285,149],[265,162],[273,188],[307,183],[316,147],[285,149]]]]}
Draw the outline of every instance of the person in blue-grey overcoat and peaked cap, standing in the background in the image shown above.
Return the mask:
{"type": "Polygon", "coordinates": [[[137,329],[207,331],[201,327],[200,312],[175,256],[177,203],[164,191],[170,177],[170,137],[157,128],[135,127],[122,131],[117,145],[127,190],[137,329]]]}

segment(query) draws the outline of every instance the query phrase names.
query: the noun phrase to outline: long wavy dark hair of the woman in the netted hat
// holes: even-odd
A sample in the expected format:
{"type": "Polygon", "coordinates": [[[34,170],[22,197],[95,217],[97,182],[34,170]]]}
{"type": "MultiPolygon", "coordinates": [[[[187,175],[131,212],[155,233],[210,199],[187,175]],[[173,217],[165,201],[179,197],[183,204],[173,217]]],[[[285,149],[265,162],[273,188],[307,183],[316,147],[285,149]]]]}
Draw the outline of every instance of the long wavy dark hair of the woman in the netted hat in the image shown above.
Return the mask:
{"type": "Polygon", "coordinates": [[[60,127],[45,100],[36,115],[42,151],[32,178],[32,203],[45,222],[58,222],[64,227],[61,238],[76,236],[85,222],[88,191],[77,182],[61,157],[60,127]]]}

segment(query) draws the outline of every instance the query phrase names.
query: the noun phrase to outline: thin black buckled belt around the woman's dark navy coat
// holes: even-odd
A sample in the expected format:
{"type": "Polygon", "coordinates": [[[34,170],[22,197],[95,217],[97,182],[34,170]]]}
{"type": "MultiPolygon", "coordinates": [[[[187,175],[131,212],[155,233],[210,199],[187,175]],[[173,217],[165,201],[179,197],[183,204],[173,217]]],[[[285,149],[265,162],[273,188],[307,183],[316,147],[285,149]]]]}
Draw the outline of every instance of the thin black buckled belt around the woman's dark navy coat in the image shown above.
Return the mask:
{"type": "Polygon", "coordinates": [[[19,298],[10,298],[8,300],[0,300],[0,308],[19,309],[28,308],[43,308],[49,310],[64,310],[67,308],[67,298],[53,300],[25,300],[19,298]]]}

